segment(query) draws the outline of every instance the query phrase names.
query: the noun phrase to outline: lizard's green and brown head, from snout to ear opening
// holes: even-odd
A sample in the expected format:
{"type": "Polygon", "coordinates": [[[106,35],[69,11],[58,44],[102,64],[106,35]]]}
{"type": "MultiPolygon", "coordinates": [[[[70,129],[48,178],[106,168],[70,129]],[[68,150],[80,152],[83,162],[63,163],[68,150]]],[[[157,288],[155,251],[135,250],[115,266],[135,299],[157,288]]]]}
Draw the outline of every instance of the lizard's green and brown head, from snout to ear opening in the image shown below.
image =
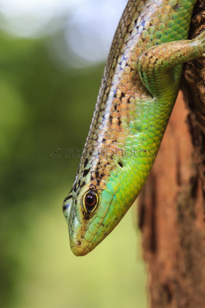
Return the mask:
{"type": "Polygon", "coordinates": [[[93,250],[119,223],[134,202],[135,187],[127,180],[130,168],[112,160],[79,165],[71,192],[63,202],[70,247],[74,255],[93,250]],[[115,164],[115,165],[114,165],[115,164]]]}

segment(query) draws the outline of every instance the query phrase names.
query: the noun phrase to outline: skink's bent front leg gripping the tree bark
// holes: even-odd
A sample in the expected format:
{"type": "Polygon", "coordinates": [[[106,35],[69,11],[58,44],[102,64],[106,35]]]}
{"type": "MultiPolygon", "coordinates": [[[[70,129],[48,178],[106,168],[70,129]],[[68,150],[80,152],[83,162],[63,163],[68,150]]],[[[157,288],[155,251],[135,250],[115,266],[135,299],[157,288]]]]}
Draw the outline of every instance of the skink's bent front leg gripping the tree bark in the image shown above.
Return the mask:
{"type": "Polygon", "coordinates": [[[151,95],[166,102],[178,92],[182,64],[204,55],[205,31],[192,40],[162,43],[147,49],[138,58],[139,75],[151,95]]]}

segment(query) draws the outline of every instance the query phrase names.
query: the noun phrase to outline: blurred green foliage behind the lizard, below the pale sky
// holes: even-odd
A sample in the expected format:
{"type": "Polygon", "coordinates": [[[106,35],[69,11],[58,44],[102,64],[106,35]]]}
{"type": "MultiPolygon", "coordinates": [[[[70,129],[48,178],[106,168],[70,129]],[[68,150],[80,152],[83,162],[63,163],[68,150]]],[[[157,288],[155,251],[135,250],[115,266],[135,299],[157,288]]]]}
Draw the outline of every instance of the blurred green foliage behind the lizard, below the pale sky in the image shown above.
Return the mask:
{"type": "Polygon", "coordinates": [[[86,257],[70,251],[61,204],[79,159],[65,151],[84,146],[104,64],[62,68],[51,39],[0,33],[0,307],[144,308],[131,211],[86,257]]]}

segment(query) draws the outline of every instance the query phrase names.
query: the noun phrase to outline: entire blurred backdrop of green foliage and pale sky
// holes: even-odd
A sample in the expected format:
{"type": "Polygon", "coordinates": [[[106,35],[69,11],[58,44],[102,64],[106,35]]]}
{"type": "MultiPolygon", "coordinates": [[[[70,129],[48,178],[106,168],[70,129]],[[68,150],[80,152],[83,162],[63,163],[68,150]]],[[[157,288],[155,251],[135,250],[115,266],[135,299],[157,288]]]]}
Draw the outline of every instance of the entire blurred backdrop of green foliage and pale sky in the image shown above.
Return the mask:
{"type": "Polygon", "coordinates": [[[147,307],[135,207],[78,258],[61,209],[126,2],[0,0],[0,307],[147,307]]]}

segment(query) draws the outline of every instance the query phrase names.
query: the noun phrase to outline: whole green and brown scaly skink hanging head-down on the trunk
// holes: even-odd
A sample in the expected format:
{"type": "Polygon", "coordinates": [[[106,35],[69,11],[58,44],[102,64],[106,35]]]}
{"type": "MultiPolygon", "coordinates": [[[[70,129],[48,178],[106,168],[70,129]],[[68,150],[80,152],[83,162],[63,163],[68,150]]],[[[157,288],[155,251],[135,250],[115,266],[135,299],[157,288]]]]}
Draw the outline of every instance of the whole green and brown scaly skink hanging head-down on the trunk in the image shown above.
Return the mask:
{"type": "Polygon", "coordinates": [[[71,192],[70,247],[94,249],[119,223],[151,171],[174,106],[182,64],[205,55],[187,40],[196,0],[129,0],[116,30],[71,192]]]}

